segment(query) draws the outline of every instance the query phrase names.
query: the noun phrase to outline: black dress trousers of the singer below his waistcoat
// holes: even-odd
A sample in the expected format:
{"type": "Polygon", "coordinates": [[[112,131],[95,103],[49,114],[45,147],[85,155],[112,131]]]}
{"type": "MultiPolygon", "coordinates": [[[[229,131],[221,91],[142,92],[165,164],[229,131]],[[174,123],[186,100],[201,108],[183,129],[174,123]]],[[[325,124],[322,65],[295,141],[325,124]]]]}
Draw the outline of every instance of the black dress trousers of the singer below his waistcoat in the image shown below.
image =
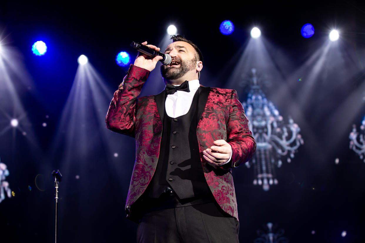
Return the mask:
{"type": "Polygon", "coordinates": [[[216,203],[145,213],[137,228],[139,243],[235,243],[239,223],[216,203]]]}

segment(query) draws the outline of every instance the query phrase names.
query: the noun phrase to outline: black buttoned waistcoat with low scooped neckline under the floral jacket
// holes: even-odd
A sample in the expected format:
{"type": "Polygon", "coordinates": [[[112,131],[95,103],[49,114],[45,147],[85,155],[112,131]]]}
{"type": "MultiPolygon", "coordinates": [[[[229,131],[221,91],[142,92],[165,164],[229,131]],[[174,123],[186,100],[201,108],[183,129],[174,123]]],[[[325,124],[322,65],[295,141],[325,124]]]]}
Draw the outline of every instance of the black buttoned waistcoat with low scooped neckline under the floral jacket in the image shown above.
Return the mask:
{"type": "Polygon", "coordinates": [[[199,90],[185,115],[171,118],[165,110],[160,156],[148,192],[151,198],[158,198],[167,187],[179,199],[210,195],[196,138],[198,96],[199,90]]]}

